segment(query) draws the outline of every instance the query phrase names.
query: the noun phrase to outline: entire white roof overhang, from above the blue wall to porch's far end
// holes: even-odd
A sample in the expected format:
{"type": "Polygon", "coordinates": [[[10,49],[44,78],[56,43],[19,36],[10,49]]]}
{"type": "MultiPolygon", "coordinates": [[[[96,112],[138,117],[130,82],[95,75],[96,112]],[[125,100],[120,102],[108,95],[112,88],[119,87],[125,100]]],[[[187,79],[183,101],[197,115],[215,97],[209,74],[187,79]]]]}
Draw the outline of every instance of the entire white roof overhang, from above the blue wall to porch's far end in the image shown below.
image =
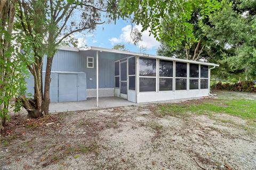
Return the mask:
{"type": "Polygon", "coordinates": [[[83,50],[95,50],[99,52],[109,52],[109,53],[118,53],[118,54],[127,54],[127,55],[134,55],[134,56],[143,56],[143,57],[150,57],[150,58],[159,58],[163,60],[171,60],[171,61],[178,61],[178,62],[187,62],[187,63],[195,63],[195,64],[202,64],[202,65],[211,65],[211,66],[219,66],[219,64],[214,63],[206,63],[206,62],[198,62],[193,60],[185,60],[180,58],[174,58],[174,57],[165,57],[165,56],[159,56],[159,55],[151,55],[151,54],[145,54],[145,53],[135,53],[135,52],[129,52],[124,50],[117,50],[117,49],[109,49],[109,48],[102,48],[102,47],[93,47],[89,46],[86,48],[75,48],[75,47],[59,47],[60,50],[70,50],[74,52],[79,52],[83,50]]]}

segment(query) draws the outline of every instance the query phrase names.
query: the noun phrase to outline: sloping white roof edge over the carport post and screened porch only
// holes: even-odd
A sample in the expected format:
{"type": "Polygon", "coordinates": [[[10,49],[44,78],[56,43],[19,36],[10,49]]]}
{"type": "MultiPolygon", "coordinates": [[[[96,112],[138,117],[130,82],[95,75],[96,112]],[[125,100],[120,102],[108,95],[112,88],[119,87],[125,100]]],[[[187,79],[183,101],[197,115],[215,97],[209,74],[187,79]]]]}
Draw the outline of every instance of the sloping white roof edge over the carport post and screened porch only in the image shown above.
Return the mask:
{"type": "Polygon", "coordinates": [[[135,52],[129,52],[129,51],[123,51],[123,50],[117,50],[117,49],[102,48],[102,47],[90,46],[90,47],[87,47],[84,50],[99,50],[99,51],[102,51],[102,52],[121,53],[121,54],[127,54],[127,55],[137,55],[137,56],[143,56],[143,57],[153,57],[153,58],[160,58],[160,59],[164,59],[164,60],[172,60],[172,61],[179,61],[179,62],[187,62],[187,63],[219,66],[219,64],[214,64],[214,63],[198,62],[198,61],[193,61],[193,60],[185,60],[185,59],[180,59],[180,58],[165,57],[165,56],[159,56],[159,55],[135,53],[135,52]]]}

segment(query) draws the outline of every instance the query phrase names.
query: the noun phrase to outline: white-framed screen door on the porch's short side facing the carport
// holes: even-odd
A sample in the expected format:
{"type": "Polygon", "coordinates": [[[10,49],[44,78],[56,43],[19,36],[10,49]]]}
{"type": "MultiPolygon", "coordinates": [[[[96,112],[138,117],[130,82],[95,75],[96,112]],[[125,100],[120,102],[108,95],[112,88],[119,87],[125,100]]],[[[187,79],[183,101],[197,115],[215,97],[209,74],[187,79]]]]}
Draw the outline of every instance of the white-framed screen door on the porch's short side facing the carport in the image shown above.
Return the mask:
{"type": "Polygon", "coordinates": [[[120,97],[127,99],[127,61],[120,63],[120,97]]]}

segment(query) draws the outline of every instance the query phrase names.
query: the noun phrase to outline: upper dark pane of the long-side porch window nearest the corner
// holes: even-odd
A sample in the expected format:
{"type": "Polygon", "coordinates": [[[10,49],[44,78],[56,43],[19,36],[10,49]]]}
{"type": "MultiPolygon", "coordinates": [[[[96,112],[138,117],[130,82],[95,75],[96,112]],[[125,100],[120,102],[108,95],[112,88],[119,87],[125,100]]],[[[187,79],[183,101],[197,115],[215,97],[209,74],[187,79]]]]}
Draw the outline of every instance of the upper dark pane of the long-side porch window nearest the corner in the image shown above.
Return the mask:
{"type": "Polygon", "coordinates": [[[140,75],[156,76],[156,59],[140,57],[140,75]]]}

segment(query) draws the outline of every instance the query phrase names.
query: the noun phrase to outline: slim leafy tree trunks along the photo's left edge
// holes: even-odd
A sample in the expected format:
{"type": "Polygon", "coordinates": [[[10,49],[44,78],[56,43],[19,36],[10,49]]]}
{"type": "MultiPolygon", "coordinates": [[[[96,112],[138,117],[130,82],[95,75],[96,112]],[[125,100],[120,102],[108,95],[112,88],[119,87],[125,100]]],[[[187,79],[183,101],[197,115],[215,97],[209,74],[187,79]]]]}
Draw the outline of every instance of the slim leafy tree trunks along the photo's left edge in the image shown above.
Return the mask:
{"type": "Polygon", "coordinates": [[[21,109],[19,100],[14,103],[12,99],[26,93],[25,77],[28,71],[26,63],[20,60],[25,56],[15,43],[19,35],[13,32],[16,5],[16,1],[0,2],[0,126],[5,125],[9,118],[10,107],[14,107],[14,112],[21,109]]]}

